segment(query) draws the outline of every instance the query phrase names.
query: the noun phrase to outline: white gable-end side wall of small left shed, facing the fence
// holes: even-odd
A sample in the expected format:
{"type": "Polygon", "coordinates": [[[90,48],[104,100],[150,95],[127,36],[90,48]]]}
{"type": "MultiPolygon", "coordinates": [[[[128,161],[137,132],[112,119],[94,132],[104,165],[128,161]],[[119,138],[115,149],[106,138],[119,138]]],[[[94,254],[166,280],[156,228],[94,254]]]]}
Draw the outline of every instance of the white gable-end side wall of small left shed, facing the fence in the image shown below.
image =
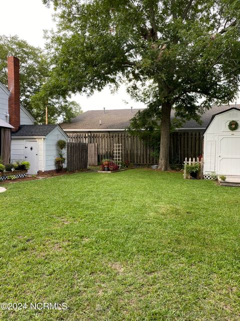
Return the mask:
{"type": "MultiPolygon", "coordinates": [[[[57,157],[57,146],[56,142],[59,139],[67,141],[65,135],[62,134],[61,130],[56,127],[47,136],[45,140],[45,171],[55,170],[55,158],[57,157]]],[[[66,151],[63,150],[66,155],[66,151]]],[[[66,163],[65,163],[66,164],[66,163]]]]}

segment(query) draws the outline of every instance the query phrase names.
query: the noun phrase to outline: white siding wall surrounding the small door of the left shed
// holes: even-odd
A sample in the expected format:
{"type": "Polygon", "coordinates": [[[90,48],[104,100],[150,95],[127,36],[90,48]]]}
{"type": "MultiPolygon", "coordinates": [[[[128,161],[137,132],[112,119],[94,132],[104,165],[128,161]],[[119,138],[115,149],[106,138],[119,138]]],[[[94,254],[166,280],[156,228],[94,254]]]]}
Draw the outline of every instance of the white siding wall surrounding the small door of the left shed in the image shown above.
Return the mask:
{"type": "Polygon", "coordinates": [[[38,171],[44,171],[44,139],[23,139],[23,138],[11,138],[11,161],[23,161],[25,159],[25,141],[36,140],[37,141],[37,167],[38,171]]]}

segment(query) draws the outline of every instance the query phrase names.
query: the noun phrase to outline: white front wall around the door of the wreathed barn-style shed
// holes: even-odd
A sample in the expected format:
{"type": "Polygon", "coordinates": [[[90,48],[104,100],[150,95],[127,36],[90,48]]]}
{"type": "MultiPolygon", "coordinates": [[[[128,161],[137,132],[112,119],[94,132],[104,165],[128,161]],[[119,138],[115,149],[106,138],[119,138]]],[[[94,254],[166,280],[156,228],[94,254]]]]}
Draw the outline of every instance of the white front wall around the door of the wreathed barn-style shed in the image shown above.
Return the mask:
{"type": "MultiPolygon", "coordinates": [[[[230,110],[215,116],[210,126],[204,133],[204,154],[203,154],[203,174],[215,172],[218,173],[219,162],[219,137],[237,137],[240,136],[240,111],[230,110]],[[236,120],[239,123],[237,130],[230,131],[228,129],[228,123],[231,120],[236,120]]],[[[239,146],[235,146],[239,148],[239,146]]],[[[226,173],[225,173],[226,174],[226,173]]],[[[240,170],[239,170],[240,174],[240,170]]]]}

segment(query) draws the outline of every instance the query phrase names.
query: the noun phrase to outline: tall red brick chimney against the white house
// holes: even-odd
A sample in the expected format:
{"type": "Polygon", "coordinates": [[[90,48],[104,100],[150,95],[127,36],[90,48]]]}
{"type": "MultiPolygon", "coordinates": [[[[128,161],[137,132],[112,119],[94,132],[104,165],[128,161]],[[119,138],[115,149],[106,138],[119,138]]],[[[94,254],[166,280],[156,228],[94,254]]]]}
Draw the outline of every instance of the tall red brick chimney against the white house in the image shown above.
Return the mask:
{"type": "Polygon", "coordinates": [[[20,80],[19,59],[13,56],[7,57],[8,70],[8,98],[9,123],[17,131],[20,126],[20,80]]]}

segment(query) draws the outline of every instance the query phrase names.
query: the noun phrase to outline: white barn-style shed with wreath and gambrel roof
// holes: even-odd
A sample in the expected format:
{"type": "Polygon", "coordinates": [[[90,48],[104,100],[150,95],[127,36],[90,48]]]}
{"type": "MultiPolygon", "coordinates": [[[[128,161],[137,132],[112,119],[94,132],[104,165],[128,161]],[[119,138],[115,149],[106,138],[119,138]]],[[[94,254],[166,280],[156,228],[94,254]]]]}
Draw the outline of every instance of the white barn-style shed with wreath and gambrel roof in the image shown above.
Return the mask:
{"type": "Polygon", "coordinates": [[[203,175],[215,173],[240,183],[240,109],[212,115],[203,136],[203,175]]]}

